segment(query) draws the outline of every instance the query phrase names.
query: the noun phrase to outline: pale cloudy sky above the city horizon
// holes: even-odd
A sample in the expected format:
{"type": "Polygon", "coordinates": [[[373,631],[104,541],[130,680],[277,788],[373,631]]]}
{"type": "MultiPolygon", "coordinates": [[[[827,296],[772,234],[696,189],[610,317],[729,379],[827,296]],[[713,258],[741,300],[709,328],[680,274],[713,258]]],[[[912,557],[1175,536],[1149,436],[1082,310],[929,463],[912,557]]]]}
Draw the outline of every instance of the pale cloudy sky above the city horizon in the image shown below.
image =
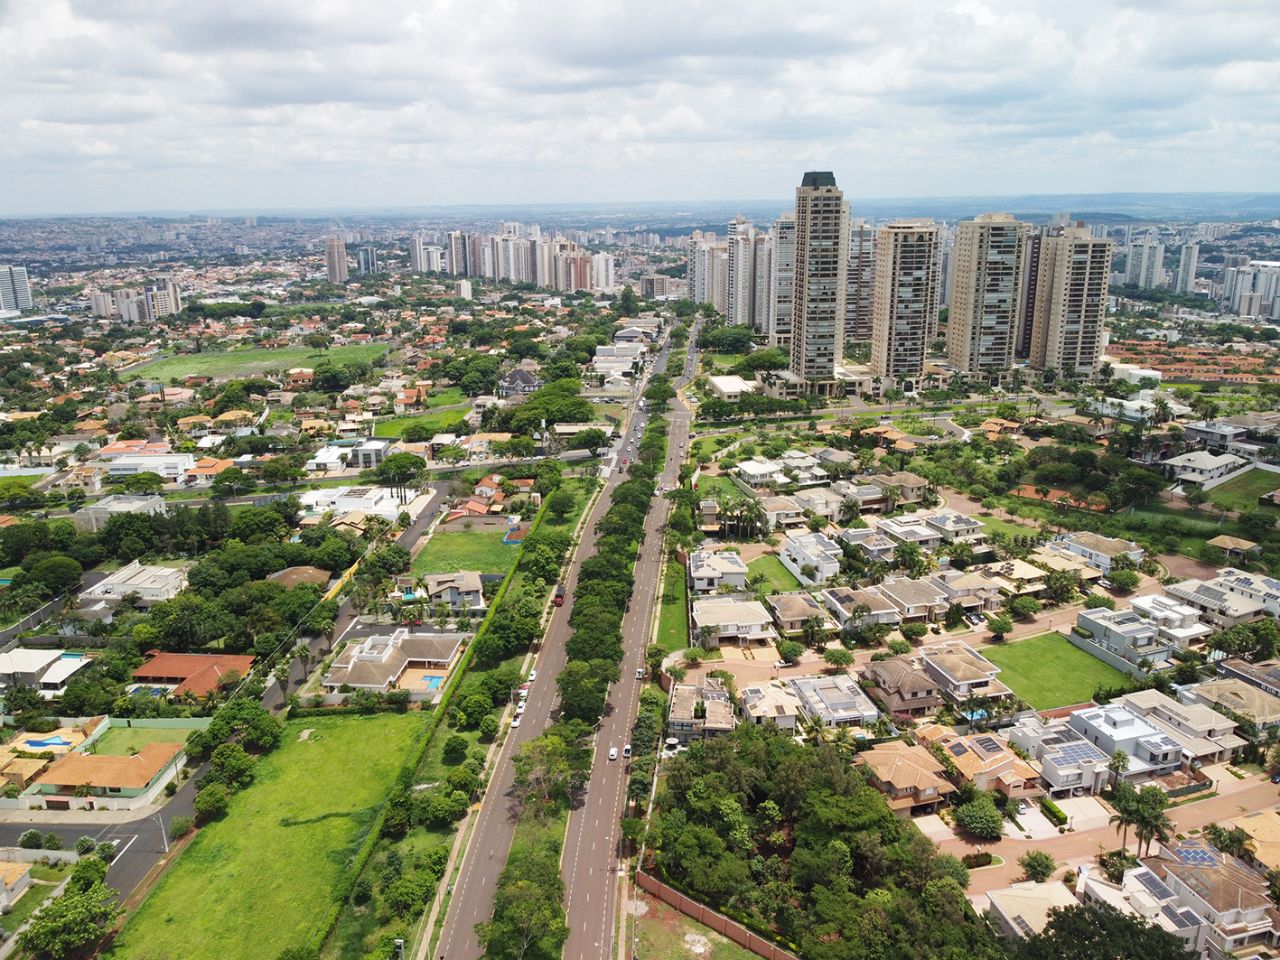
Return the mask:
{"type": "Polygon", "coordinates": [[[0,215],[1280,189],[1280,4],[0,0],[0,215]]]}

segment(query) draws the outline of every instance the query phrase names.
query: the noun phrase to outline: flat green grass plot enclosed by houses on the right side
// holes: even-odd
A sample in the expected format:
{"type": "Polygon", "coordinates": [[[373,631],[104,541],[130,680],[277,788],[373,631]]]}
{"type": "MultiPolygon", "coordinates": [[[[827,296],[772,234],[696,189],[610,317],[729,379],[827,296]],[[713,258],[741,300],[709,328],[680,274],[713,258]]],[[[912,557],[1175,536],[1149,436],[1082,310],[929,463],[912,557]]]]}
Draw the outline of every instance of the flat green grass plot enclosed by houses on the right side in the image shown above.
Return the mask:
{"type": "Polygon", "coordinates": [[[1000,667],[998,680],[1037,710],[1084,703],[1093,699],[1098,684],[1116,686],[1124,681],[1115,667],[1071,646],[1056,632],[984,646],[982,655],[1000,667]]]}

